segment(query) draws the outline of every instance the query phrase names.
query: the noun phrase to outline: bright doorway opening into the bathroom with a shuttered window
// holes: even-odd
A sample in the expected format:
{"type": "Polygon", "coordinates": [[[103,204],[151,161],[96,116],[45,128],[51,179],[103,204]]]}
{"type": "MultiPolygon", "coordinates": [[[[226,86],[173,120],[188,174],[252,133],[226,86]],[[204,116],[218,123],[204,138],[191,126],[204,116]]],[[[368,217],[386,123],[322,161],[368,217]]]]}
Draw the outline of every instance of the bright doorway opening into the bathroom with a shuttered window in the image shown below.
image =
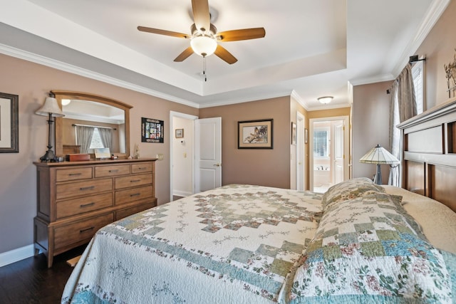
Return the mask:
{"type": "Polygon", "coordinates": [[[310,120],[310,189],[323,193],[348,179],[348,117],[310,120]],[[347,156],[347,157],[346,157],[347,156]]]}

